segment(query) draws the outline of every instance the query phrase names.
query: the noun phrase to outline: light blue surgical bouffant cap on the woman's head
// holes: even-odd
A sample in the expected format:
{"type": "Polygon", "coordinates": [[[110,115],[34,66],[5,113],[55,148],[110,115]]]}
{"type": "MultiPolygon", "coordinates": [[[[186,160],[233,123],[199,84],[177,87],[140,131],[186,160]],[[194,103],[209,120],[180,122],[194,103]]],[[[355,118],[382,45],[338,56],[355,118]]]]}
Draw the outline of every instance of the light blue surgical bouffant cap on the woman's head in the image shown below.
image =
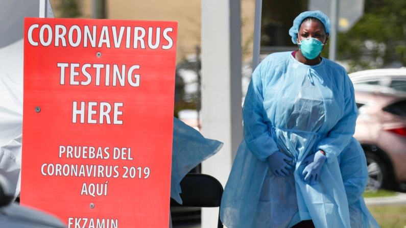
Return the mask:
{"type": "Polygon", "coordinates": [[[291,35],[292,42],[294,44],[297,44],[296,38],[297,38],[297,34],[299,33],[299,27],[300,27],[300,24],[302,23],[302,21],[304,20],[304,18],[306,18],[306,17],[316,17],[324,24],[324,27],[326,28],[326,33],[330,33],[331,21],[330,21],[330,18],[327,17],[327,15],[325,15],[324,13],[322,13],[319,10],[306,11],[306,12],[299,14],[299,16],[297,16],[295,18],[295,20],[293,21],[293,26],[289,30],[289,35],[291,35]]]}

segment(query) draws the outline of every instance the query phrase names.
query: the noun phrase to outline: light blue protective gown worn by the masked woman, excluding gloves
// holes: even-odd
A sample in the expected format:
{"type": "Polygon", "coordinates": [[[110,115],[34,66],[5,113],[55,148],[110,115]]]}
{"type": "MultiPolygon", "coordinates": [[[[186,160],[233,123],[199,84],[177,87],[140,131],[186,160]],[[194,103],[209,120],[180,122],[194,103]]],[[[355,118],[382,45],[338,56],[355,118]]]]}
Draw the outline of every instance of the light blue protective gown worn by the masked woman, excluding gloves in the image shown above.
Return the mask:
{"type": "Polygon", "coordinates": [[[291,52],[275,53],[252,74],[245,98],[244,140],[224,190],[221,219],[228,228],[291,227],[312,219],[316,227],[350,227],[337,156],[355,129],[357,108],[345,69],[322,59],[308,66],[291,52]],[[304,158],[326,153],[320,181],[301,177],[304,158]],[[290,156],[294,172],[275,176],[267,158],[290,156]]]}

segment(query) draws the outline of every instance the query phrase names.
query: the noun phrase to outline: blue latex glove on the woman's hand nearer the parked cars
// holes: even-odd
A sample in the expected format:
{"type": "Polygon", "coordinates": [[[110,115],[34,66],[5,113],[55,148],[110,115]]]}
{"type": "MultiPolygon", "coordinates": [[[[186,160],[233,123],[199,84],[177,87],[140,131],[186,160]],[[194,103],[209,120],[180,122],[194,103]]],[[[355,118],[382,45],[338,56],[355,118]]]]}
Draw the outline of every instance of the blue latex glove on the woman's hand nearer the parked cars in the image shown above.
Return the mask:
{"type": "Polygon", "coordinates": [[[327,157],[319,150],[316,154],[310,155],[303,160],[303,164],[308,163],[302,173],[305,182],[310,183],[311,185],[319,182],[321,167],[326,159],[327,157]]]}

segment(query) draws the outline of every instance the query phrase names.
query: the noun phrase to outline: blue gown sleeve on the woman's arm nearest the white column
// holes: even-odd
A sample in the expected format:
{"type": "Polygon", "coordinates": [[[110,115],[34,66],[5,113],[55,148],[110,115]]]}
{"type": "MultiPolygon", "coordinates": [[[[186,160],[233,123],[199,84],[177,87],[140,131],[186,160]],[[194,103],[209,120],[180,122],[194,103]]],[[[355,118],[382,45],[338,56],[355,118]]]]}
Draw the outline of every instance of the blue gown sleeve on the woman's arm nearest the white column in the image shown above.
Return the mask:
{"type": "Polygon", "coordinates": [[[262,77],[267,64],[261,62],[254,70],[244,101],[244,139],[249,150],[261,161],[265,161],[278,147],[264,122],[264,97],[262,96],[262,77]]]}

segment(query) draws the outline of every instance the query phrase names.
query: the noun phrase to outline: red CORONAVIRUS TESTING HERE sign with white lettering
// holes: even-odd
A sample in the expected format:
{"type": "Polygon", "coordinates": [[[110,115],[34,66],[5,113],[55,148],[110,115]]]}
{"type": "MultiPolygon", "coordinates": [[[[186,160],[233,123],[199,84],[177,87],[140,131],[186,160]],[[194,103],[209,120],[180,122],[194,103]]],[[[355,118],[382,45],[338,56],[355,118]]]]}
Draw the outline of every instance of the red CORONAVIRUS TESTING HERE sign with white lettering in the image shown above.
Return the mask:
{"type": "Polygon", "coordinates": [[[177,22],[25,18],[21,203],[168,227],[177,22]]]}

